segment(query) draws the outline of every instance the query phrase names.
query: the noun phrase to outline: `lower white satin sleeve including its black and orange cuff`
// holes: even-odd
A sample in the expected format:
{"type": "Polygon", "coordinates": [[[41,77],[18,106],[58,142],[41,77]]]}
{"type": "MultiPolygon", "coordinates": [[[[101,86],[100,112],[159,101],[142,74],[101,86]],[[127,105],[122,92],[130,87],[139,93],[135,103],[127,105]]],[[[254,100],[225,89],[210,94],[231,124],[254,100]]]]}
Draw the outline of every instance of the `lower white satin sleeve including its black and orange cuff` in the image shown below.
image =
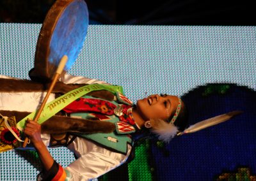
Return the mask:
{"type": "Polygon", "coordinates": [[[124,164],[132,148],[131,145],[127,145],[127,154],[124,155],[99,147],[94,143],[88,144],[92,149],[84,148],[84,150],[90,150],[89,152],[81,155],[66,168],[54,161],[49,171],[38,174],[37,180],[93,180],[124,164]]]}

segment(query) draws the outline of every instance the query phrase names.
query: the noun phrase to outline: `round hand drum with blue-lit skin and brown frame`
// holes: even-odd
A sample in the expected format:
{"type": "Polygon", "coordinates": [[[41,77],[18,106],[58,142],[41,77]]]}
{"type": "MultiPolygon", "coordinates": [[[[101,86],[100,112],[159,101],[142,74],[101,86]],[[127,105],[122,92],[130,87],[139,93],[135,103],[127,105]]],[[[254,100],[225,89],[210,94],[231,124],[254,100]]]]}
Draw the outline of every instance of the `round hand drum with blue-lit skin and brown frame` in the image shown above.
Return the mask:
{"type": "Polygon", "coordinates": [[[77,59],[88,29],[88,8],[83,0],[56,1],[48,11],[36,43],[35,68],[29,76],[51,80],[63,55],[64,72],[77,59]]]}

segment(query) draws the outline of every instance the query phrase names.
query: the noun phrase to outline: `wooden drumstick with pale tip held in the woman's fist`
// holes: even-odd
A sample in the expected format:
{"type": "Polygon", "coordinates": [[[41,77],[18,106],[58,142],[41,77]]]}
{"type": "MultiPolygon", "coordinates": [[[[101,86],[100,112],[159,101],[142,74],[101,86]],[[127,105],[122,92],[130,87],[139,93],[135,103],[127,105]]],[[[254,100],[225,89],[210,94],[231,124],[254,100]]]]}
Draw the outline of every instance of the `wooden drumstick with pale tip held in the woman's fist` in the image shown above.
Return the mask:
{"type": "MultiPolygon", "coordinates": [[[[34,119],[35,122],[37,122],[37,120],[39,119],[40,117],[40,114],[42,113],[43,109],[44,109],[44,106],[47,102],[47,99],[49,98],[51,92],[52,92],[52,89],[55,85],[55,83],[58,81],[58,79],[60,78],[60,75],[61,75],[61,72],[63,71],[63,69],[65,68],[65,64],[67,63],[67,60],[68,60],[68,57],[67,55],[64,55],[62,58],[61,58],[61,61],[60,61],[60,64],[58,65],[58,68],[56,70],[56,73],[52,79],[52,82],[51,82],[51,86],[49,87],[48,91],[47,91],[47,94],[42,102],[42,104],[40,105],[40,108],[39,110],[36,112],[36,117],[34,119]]],[[[28,137],[25,138],[24,140],[24,143],[22,145],[23,148],[26,147],[26,145],[28,144],[28,137]]]]}

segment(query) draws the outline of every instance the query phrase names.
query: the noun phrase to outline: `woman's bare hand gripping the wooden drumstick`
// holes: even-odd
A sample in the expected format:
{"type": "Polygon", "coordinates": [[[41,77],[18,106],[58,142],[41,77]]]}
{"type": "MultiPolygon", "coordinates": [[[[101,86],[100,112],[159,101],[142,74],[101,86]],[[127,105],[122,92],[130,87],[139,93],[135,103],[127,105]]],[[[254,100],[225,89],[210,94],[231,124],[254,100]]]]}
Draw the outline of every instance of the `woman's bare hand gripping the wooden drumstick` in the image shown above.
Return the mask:
{"type": "Polygon", "coordinates": [[[35,148],[43,143],[41,138],[41,125],[33,120],[27,120],[24,133],[28,136],[35,148]]]}

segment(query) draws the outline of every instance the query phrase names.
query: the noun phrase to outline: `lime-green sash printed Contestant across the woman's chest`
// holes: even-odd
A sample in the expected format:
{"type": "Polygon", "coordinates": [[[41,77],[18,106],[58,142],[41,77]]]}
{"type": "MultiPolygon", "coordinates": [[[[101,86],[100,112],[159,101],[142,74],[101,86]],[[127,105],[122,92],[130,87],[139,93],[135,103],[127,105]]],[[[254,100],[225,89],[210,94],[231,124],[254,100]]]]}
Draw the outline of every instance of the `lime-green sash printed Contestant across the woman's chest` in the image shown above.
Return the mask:
{"type": "MultiPolygon", "coordinates": [[[[69,105],[76,99],[80,98],[81,96],[84,96],[85,94],[88,94],[92,91],[100,91],[100,90],[107,90],[115,94],[115,92],[120,92],[123,94],[123,88],[118,85],[103,85],[103,84],[91,84],[91,85],[84,85],[83,87],[79,87],[77,89],[74,89],[73,91],[68,92],[67,94],[64,94],[63,96],[60,96],[57,99],[54,99],[50,103],[47,103],[44,106],[44,109],[38,119],[38,123],[42,124],[45,122],[45,120],[49,119],[56,113],[60,112],[65,106],[69,105]]],[[[36,112],[29,114],[27,117],[24,117],[24,119],[20,120],[20,122],[17,123],[17,128],[20,131],[23,131],[26,120],[34,119],[36,112]]]]}

